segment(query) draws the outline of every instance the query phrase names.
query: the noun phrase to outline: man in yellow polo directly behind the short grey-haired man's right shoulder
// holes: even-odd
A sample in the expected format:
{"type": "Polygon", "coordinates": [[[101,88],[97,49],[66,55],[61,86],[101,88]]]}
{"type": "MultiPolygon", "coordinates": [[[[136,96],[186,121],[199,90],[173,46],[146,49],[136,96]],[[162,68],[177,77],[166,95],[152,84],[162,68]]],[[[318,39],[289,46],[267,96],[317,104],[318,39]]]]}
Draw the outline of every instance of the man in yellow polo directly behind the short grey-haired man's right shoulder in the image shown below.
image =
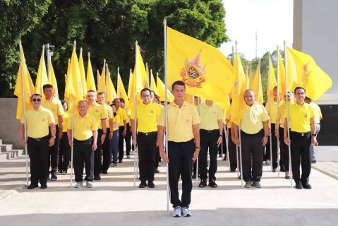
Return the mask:
{"type": "Polygon", "coordinates": [[[100,180],[99,174],[102,172],[102,144],[107,136],[107,114],[104,107],[97,104],[96,93],[93,90],[87,92],[87,101],[89,104],[88,113],[94,115],[97,121],[97,150],[94,153],[94,179],[100,180]]]}

